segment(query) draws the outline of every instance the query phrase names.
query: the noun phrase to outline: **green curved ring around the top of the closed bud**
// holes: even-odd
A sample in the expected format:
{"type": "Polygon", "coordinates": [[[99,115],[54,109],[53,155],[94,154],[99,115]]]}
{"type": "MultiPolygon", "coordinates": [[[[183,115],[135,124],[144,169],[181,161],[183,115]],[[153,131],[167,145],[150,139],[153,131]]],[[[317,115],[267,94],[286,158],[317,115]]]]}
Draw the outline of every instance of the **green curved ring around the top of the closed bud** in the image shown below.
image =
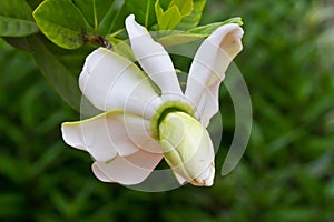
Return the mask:
{"type": "Polygon", "coordinates": [[[159,124],[170,112],[185,112],[194,117],[194,110],[189,104],[179,101],[165,102],[161,107],[158,108],[150,122],[150,129],[155,139],[159,140],[159,124]]]}

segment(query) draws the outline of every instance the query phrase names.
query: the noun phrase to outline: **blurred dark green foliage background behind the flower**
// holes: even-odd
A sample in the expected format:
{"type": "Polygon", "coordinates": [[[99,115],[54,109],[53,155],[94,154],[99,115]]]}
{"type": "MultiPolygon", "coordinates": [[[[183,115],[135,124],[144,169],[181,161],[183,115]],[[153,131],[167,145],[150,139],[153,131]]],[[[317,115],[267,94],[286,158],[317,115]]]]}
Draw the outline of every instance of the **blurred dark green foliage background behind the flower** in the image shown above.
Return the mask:
{"type": "Polygon", "coordinates": [[[254,124],[243,160],[220,176],[234,131],[226,124],[212,188],[144,193],[99,182],[92,160],[61,140],[78,120],[32,57],[0,40],[0,221],[334,221],[334,2],[208,0],[203,23],[239,16],[236,64],[254,124]]]}

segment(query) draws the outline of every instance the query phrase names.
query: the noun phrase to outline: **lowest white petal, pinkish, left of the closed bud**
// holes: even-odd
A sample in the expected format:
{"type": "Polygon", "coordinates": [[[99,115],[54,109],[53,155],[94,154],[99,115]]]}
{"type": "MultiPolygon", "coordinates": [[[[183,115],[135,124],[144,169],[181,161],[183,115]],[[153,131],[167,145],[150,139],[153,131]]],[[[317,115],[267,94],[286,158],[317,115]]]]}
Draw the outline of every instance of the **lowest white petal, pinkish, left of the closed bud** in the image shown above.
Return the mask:
{"type": "Polygon", "coordinates": [[[143,182],[161,159],[161,154],[140,150],[128,157],[117,155],[108,162],[96,161],[92,171],[101,181],[134,185],[143,182]]]}

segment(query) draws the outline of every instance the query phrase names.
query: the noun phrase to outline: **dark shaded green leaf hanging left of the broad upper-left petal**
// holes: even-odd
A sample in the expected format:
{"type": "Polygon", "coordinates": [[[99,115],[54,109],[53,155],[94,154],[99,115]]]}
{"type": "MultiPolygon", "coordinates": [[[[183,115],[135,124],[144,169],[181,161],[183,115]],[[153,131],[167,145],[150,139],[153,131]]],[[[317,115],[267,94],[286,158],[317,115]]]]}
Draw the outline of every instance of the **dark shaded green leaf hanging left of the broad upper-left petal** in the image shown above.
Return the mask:
{"type": "Polygon", "coordinates": [[[79,111],[81,92],[77,75],[90,50],[81,48],[69,52],[48,43],[43,37],[38,36],[27,37],[27,43],[48,82],[68,104],[79,111]]]}

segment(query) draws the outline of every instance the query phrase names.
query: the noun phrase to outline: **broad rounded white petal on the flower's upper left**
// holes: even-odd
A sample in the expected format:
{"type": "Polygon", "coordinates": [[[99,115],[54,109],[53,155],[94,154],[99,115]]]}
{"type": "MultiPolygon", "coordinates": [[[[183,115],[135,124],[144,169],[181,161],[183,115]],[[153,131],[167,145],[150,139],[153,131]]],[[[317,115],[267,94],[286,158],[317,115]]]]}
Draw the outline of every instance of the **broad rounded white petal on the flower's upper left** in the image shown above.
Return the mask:
{"type": "Polygon", "coordinates": [[[98,109],[143,113],[144,107],[157,97],[150,80],[131,61],[99,48],[86,59],[79,78],[82,93],[98,109]]]}

